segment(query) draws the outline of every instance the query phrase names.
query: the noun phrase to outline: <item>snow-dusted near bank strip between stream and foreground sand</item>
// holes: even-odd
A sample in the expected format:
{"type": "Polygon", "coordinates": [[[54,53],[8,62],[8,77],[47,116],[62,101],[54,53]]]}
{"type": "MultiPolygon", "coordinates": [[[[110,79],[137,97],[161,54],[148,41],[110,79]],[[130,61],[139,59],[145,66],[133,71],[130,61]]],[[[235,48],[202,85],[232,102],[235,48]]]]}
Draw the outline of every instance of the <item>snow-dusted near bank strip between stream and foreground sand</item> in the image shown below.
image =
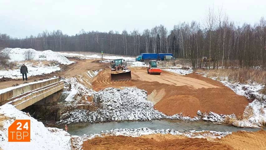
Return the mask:
{"type": "Polygon", "coordinates": [[[91,135],[83,135],[83,136],[72,136],[73,146],[76,150],[82,149],[83,141],[87,141],[96,137],[105,137],[105,136],[130,136],[130,137],[140,137],[142,135],[150,135],[150,134],[171,134],[171,135],[182,135],[188,138],[222,138],[231,132],[216,132],[216,131],[195,131],[191,130],[188,132],[181,133],[177,130],[173,129],[161,129],[161,130],[153,130],[149,128],[134,128],[134,129],[112,129],[110,131],[102,131],[100,134],[91,134],[91,135]]]}

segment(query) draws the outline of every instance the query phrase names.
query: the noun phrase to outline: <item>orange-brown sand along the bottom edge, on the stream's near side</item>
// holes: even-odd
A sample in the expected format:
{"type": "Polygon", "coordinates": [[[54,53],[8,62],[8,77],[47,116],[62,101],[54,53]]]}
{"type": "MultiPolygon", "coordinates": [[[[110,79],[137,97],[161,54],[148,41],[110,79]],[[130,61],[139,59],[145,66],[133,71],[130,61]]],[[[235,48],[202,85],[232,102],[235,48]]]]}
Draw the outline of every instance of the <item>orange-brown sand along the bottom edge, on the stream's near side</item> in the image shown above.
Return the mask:
{"type": "Polygon", "coordinates": [[[83,143],[83,150],[152,149],[152,150],[265,150],[266,132],[238,131],[224,138],[187,138],[181,135],[152,134],[141,137],[97,137],[83,143]]]}

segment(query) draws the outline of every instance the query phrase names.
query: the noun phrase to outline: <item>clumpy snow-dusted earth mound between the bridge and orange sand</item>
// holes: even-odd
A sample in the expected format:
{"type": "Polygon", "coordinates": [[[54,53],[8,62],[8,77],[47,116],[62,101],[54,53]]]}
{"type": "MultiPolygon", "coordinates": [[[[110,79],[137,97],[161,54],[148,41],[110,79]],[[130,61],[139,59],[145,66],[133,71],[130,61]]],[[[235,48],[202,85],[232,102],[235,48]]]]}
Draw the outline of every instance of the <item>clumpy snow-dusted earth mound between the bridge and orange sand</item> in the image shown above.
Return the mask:
{"type": "Polygon", "coordinates": [[[199,118],[182,117],[179,114],[167,116],[154,110],[153,103],[147,101],[147,92],[138,88],[106,88],[94,92],[93,102],[98,109],[89,111],[76,109],[61,115],[58,123],[70,124],[79,122],[106,122],[106,121],[130,121],[130,120],[155,120],[155,119],[179,119],[198,121],[199,118]]]}

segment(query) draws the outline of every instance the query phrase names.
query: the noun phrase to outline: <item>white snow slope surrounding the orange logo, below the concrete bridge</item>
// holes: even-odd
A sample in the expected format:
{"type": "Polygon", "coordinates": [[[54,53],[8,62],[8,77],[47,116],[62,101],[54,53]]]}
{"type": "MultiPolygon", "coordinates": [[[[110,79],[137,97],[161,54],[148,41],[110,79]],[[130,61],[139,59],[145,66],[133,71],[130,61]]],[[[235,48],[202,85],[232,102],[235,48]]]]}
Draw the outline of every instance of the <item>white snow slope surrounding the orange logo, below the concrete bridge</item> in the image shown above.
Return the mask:
{"type": "Polygon", "coordinates": [[[0,141],[0,149],[4,150],[72,149],[69,133],[58,128],[46,128],[43,123],[10,104],[0,106],[0,141]],[[31,120],[31,142],[8,142],[8,127],[16,119],[31,120]]]}

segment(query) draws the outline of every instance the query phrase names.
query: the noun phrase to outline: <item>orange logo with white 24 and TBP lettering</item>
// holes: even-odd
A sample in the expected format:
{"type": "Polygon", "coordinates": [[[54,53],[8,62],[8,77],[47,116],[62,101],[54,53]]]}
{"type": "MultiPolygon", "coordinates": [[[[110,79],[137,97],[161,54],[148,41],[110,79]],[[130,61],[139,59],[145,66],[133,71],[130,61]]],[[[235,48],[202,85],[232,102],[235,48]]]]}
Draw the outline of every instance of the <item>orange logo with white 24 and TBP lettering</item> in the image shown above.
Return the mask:
{"type": "Polygon", "coordinates": [[[8,127],[8,142],[31,142],[31,120],[15,120],[8,127]]]}

